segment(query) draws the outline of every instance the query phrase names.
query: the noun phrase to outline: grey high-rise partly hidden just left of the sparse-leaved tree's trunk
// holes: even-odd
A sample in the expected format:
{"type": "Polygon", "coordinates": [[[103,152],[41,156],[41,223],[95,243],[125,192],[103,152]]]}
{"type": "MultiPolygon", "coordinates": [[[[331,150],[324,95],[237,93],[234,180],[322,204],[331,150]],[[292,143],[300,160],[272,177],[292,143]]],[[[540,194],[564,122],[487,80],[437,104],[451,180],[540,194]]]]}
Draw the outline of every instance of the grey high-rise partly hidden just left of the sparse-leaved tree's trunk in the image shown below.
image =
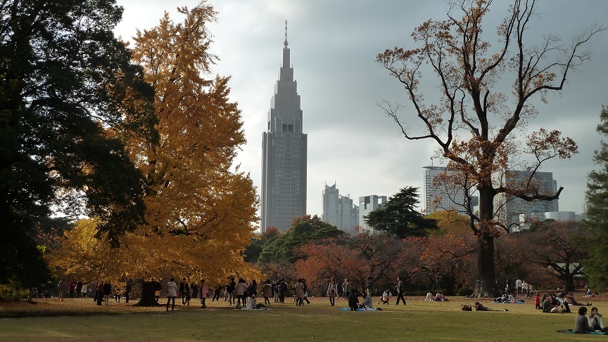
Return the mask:
{"type": "MultiPolygon", "coordinates": [[[[422,189],[422,197],[424,198],[424,209],[423,213],[429,215],[433,211],[437,210],[455,210],[459,213],[466,214],[466,195],[464,189],[456,187],[441,186],[437,187],[433,184],[433,180],[436,176],[444,173],[445,167],[441,166],[424,166],[424,188],[422,189]],[[440,199],[441,200],[436,200],[440,199]]],[[[447,171],[448,175],[450,172],[447,171]]],[[[471,211],[475,206],[479,205],[479,197],[471,196],[471,203],[469,204],[471,211]]]]}

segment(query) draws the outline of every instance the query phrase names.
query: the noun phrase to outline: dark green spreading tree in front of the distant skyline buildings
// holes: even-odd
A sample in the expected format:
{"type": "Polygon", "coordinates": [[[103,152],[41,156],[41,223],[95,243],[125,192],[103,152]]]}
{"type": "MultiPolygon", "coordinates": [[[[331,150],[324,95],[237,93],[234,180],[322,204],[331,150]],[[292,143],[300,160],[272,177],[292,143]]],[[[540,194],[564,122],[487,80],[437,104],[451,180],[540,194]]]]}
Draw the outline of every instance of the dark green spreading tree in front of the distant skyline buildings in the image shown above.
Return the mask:
{"type": "Polygon", "coordinates": [[[418,188],[403,188],[389,197],[381,209],[365,216],[365,222],[375,230],[391,232],[401,238],[426,236],[429,230],[437,229],[437,221],[424,218],[416,210],[418,197],[418,188]]]}

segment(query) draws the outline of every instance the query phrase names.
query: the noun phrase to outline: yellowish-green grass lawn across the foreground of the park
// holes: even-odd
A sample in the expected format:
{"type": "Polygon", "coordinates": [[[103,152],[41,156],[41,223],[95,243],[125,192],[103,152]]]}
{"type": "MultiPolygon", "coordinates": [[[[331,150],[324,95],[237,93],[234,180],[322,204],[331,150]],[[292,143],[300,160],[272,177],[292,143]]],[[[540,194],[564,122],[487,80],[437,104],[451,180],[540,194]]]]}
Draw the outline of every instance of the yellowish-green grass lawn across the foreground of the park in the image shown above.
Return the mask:
{"type": "MultiPolygon", "coordinates": [[[[189,307],[180,301],[169,313],[163,306],[113,301],[100,307],[91,298],[0,303],[0,341],[608,341],[608,336],[557,333],[574,329],[576,313],[543,314],[531,299],[525,304],[481,301],[508,312],[463,312],[460,304],[474,303],[469,298],[407,297],[407,305],[394,305],[393,299],[391,305],[377,305],[383,311],[363,313],[339,310],[346,306],[341,299],[331,307],[327,298],[311,298],[303,307],[271,303],[270,310],[255,311],[234,310],[223,300],[207,309],[200,309],[198,300],[189,307]]],[[[607,298],[589,299],[608,315],[607,298]]]]}

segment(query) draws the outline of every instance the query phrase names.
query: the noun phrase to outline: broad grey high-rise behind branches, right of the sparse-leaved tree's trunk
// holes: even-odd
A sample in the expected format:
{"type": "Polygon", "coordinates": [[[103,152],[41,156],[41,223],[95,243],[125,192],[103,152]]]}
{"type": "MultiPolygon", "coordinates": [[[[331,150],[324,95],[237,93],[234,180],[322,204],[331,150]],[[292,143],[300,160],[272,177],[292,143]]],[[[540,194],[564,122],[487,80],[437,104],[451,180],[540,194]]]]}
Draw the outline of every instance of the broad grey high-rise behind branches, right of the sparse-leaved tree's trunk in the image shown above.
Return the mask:
{"type": "MultiPolygon", "coordinates": [[[[505,186],[518,187],[530,180],[533,171],[507,171],[504,179],[498,180],[505,186]],[[521,184],[518,186],[518,184],[521,184]]],[[[536,171],[531,178],[533,185],[538,186],[538,192],[543,195],[554,195],[557,192],[557,180],[553,179],[552,172],[536,171]]],[[[531,195],[531,194],[528,194],[531,195]]],[[[524,201],[517,197],[507,195],[505,193],[498,194],[495,197],[494,208],[498,209],[500,220],[505,225],[513,223],[524,224],[530,218],[543,219],[544,214],[551,211],[559,211],[559,202],[557,199],[552,201],[533,200],[532,202],[524,201]]]]}

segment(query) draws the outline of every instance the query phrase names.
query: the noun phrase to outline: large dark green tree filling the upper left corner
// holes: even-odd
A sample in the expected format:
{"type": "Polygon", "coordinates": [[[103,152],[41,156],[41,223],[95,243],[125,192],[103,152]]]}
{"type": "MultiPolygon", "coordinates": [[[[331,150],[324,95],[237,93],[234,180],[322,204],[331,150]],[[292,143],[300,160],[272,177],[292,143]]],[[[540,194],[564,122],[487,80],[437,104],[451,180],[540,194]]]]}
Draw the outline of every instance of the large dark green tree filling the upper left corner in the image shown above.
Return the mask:
{"type": "Polygon", "coordinates": [[[0,3],[0,283],[48,279],[33,230],[51,208],[101,218],[117,241],[144,213],[125,152],[153,140],[153,89],[112,29],[113,0],[0,3]]]}

